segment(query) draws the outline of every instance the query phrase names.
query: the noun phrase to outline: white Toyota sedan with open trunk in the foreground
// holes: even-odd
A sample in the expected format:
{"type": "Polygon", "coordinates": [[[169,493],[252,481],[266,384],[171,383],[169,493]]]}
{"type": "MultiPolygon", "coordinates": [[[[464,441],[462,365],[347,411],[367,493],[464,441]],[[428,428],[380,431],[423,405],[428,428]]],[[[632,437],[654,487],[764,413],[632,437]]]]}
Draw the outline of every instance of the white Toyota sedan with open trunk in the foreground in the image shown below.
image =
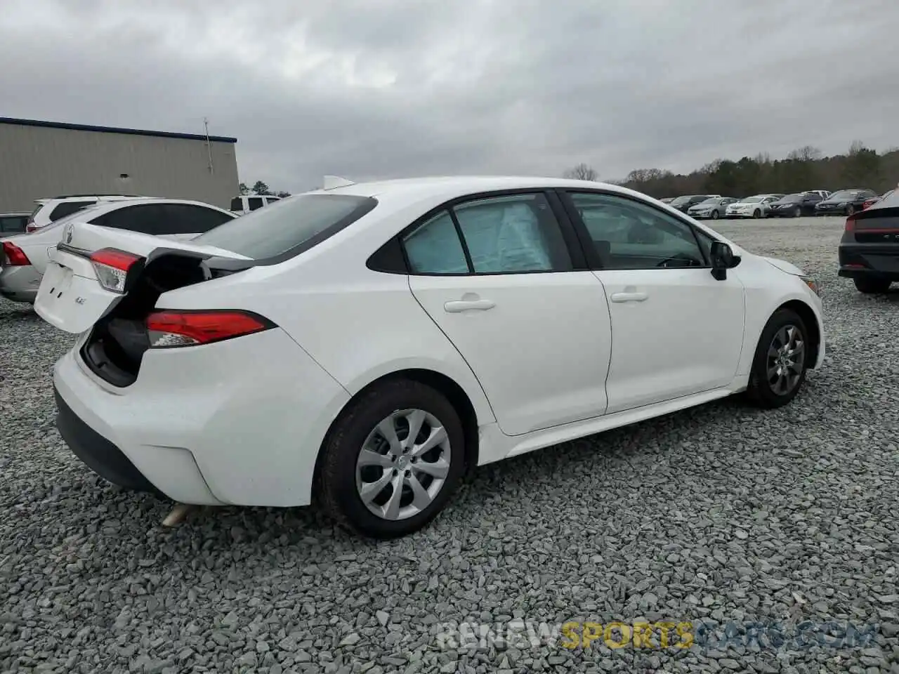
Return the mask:
{"type": "Polygon", "coordinates": [[[194,504],[313,499],[422,528],[467,469],[747,392],[824,356],[788,262],[596,182],[307,192],[190,241],[67,227],[38,313],[78,335],[58,428],[111,483],[194,504]]]}

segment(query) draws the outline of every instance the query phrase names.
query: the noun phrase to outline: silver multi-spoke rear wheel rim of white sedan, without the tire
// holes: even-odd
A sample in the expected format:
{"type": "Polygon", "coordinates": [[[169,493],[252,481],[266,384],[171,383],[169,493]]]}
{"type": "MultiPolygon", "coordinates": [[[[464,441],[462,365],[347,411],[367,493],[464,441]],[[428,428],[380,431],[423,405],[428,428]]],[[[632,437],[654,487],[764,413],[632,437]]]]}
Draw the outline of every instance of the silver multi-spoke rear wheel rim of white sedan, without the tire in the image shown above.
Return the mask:
{"type": "Polygon", "coordinates": [[[426,510],[449,474],[449,435],[424,410],[393,412],[371,430],[356,460],[356,490],[381,519],[407,519],[426,510]]]}

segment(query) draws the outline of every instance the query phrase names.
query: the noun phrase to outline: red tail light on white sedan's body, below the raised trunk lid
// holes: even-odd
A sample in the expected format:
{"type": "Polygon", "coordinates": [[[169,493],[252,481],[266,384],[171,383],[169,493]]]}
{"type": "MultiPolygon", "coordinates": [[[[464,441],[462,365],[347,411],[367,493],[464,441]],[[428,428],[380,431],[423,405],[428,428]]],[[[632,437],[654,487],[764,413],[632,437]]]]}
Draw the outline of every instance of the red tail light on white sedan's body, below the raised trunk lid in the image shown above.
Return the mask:
{"type": "Polygon", "coordinates": [[[229,309],[159,311],[147,316],[150,347],[163,349],[209,344],[245,334],[261,333],[274,324],[261,315],[229,309]]]}

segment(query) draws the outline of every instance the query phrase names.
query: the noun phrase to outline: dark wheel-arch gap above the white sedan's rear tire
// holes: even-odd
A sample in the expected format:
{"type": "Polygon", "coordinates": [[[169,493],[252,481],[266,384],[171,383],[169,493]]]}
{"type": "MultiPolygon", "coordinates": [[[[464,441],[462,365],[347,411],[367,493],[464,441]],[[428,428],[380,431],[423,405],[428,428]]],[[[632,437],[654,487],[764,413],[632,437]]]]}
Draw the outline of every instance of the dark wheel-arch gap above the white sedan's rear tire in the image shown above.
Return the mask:
{"type": "Polygon", "coordinates": [[[396,381],[397,379],[408,379],[412,381],[417,381],[426,386],[431,386],[434,390],[444,395],[447,400],[449,400],[449,404],[451,404],[456,412],[458,412],[459,421],[462,422],[462,430],[465,433],[465,462],[466,462],[466,472],[470,472],[477,466],[478,458],[480,456],[480,447],[479,447],[479,432],[478,432],[478,417],[477,412],[475,410],[475,405],[472,403],[470,396],[467,394],[465,389],[458,384],[452,377],[445,375],[441,372],[438,372],[433,369],[428,368],[404,368],[398,369],[393,372],[388,372],[387,374],[381,375],[370,381],[365,386],[362,386],[355,394],[352,395],[350,400],[343,405],[341,411],[334,417],[334,420],[331,421],[330,426],[328,427],[327,432],[325,433],[325,437],[322,439],[322,444],[318,448],[318,453],[316,456],[316,467],[315,473],[313,475],[313,496],[316,496],[316,492],[318,491],[320,481],[319,475],[321,470],[321,462],[322,457],[324,456],[323,449],[325,448],[325,444],[328,439],[331,437],[331,433],[334,430],[334,426],[338,421],[343,417],[343,412],[350,408],[352,404],[354,404],[362,395],[366,395],[371,391],[371,389],[376,388],[378,386],[382,386],[386,382],[396,381]]]}

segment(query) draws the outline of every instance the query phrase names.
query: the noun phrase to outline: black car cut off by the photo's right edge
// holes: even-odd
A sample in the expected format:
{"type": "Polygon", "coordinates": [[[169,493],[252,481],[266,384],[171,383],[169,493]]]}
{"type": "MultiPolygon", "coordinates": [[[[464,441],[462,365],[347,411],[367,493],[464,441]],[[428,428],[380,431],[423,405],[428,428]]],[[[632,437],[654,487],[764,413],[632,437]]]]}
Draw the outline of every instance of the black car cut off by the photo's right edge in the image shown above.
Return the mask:
{"type": "Polygon", "coordinates": [[[884,293],[899,281],[899,190],[846,218],[840,276],[863,293],[884,293]]]}

